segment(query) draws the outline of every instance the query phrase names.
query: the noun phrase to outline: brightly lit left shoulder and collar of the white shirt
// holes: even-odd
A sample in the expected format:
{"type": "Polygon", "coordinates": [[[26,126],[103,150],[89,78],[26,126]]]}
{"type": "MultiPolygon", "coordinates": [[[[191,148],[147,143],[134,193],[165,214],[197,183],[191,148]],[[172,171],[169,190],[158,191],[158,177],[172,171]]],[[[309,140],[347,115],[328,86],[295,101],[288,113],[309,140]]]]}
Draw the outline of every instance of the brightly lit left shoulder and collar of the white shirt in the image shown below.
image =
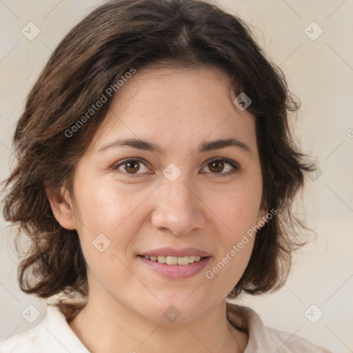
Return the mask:
{"type": "Polygon", "coordinates": [[[47,315],[37,326],[0,342],[0,353],[19,352],[89,353],[54,305],[47,305],[47,315]]]}

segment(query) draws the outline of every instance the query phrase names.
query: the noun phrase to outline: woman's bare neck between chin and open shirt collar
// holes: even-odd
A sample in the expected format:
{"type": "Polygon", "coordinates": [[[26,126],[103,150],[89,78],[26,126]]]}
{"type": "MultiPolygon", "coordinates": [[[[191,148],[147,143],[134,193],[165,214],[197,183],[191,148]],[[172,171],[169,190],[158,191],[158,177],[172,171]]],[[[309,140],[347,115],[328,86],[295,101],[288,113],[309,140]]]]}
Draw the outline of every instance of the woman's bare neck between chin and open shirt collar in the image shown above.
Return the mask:
{"type": "Polygon", "coordinates": [[[91,353],[240,353],[248,342],[226,319],[225,300],[202,318],[177,324],[156,323],[121,303],[91,297],[69,325],[91,353]]]}

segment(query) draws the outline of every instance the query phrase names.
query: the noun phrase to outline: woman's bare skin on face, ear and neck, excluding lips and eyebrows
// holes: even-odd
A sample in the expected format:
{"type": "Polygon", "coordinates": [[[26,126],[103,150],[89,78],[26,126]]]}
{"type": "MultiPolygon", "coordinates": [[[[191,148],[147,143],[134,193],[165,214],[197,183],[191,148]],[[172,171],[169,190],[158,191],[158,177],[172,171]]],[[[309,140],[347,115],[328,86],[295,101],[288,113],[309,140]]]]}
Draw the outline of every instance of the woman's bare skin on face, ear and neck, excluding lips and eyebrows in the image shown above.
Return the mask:
{"type": "Polygon", "coordinates": [[[232,103],[228,75],[206,65],[144,68],[118,93],[76,165],[73,194],[47,190],[57,221],[77,230],[88,264],[88,304],[70,327],[90,352],[243,352],[248,334],[226,319],[225,298],[248,264],[254,239],[213,279],[205,271],[266,213],[255,118],[232,103]],[[97,152],[126,138],[165,152],[130,146],[97,152]],[[203,141],[229,138],[250,151],[197,152],[203,141]],[[112,168],[129,157],[145,161],[137,163],[137,174],[128,169],[134,177],[126,165],[112,168]],[[226,162],[212,169],[209,160],[217,158],[240,169],[217,177],[233,170],[226,162]],[[181,171],[175,181],[163,175],[170,163],[181,171]],[[110,241],[104,252],[92,245],[101,233],[110,241]],[[165,279],[137,256],[161,247],[199,248],[212,259],[188,279],[165,279]],[[181,313],[173,323],[163,316],[170,305],[181,313]]]}

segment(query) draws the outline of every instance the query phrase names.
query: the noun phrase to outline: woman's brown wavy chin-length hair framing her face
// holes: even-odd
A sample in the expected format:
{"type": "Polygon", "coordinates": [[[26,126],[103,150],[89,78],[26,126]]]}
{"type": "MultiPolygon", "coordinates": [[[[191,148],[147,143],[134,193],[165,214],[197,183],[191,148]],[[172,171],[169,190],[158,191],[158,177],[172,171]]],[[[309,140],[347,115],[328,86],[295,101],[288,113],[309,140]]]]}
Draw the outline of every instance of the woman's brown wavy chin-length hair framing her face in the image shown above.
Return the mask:
{"type": "Polygon", "coordinates": [[[3,216],[17,225],[17,245],[23,234],[30,241],[18,268],[23,292],[41,298],[60,292],[87,297],[79,236],[54,218],[45,183],[54,190],[65,184],[72,191],[75,163],[112,99],[71,137],[65,131],[128,70],[162,62],[181,68],[216,65],[232,79],[234,94],[245,92],[252,99],[248,111],[256,117],[262,205],[278,213],[257,232],[248,267],[229,296],[283,285],[292,251],[303,243],[301,224],[290,213],[292,201],[303,186],[304,172],[314,168],[289,128],[299,99],[249,26],[234,14],[199,0],[120,0],[103,3],[63,38],[28,94],[14,132],[17,164],[3,182],[3,216]]]}

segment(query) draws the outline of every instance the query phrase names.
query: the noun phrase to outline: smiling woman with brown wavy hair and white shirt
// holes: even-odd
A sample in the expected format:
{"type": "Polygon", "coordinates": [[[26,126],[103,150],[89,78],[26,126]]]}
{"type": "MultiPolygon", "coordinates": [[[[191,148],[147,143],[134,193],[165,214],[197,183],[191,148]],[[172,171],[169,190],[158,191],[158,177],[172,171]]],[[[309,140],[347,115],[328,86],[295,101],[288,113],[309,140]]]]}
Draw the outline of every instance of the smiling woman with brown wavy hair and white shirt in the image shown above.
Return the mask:
{"type": "Polygon", "coordinates": [[[85,17],[28,96],[3,210],[31,239],[21,289],[72,301],[1,352],[328,352],[228,301],[280,288],[300,245],[297,108],[248,27],[210,3],[85,17]]]}

